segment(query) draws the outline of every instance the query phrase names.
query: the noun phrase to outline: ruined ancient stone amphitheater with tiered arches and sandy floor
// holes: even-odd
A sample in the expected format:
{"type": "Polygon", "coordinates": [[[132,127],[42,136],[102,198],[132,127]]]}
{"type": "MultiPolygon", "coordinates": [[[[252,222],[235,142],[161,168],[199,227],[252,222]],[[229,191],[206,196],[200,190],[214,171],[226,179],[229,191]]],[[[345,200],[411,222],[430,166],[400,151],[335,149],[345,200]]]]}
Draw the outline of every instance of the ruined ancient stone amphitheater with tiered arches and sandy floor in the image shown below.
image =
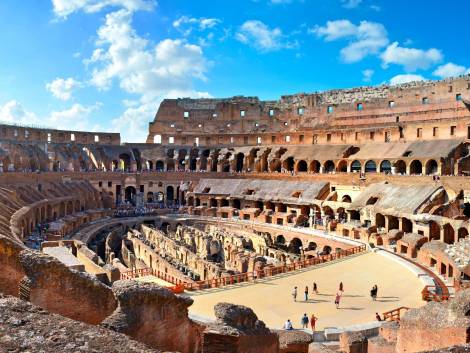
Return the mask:
{"type": "Polygon", "coordinates": [[[470,76],[1,125],[0,171],[2,352],[470,350],[470,76]]]}

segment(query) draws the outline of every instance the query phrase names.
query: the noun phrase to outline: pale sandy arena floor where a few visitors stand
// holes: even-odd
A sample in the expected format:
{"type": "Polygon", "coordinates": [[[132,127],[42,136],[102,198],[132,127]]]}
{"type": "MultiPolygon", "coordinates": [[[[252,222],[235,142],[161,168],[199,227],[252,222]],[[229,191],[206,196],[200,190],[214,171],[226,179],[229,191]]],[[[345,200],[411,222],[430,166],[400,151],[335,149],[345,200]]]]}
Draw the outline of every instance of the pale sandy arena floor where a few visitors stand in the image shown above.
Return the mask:
{"type": "Polygon", "coordinates": [[[304,269],[295,274],[270,278],[256,284],[242,284],[188,293],[194,304],[189,312],[195,317],[214,319],[213,307],[219,302],[246,305],[252,308],[270,328],[282,328],[291,319],[294,328],[300,327],[304,313],[318,317],[317,330],[326,327],[344,327],[375,321],[375,313],[400,306],[419,307],[425,304],[421,297],[423,284],[410,270],[376,253],[367,253],[320,268],[304,269]],[[313,282],[319,294],[304,301],[305,286],[312,290],[313,282]],[[344,294],[340,308],[334,305],[340,282],[344,294]],[[372,301],[370,289],[377,284],[377,301],[372,301]],[[297,302],[292,289],[298,287],[297,302]]]}

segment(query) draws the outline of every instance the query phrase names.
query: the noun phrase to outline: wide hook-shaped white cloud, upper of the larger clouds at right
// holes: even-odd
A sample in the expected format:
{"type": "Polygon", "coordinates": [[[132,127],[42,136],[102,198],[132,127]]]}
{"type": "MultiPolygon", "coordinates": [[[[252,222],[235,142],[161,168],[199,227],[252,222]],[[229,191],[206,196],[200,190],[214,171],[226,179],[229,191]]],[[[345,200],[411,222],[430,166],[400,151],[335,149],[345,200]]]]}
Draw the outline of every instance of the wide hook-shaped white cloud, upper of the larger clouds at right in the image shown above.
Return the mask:
{"type": "Polygon", "coordinates": [[[341,49],[341,58],[347,63],[377,54],[389,42],[387,30],[377,22],[361,21],[355,25],[349,20],[328,21],[325,26],[316,26],[309,32],[325,41],[349,40],[349,44],[341,49]]]}

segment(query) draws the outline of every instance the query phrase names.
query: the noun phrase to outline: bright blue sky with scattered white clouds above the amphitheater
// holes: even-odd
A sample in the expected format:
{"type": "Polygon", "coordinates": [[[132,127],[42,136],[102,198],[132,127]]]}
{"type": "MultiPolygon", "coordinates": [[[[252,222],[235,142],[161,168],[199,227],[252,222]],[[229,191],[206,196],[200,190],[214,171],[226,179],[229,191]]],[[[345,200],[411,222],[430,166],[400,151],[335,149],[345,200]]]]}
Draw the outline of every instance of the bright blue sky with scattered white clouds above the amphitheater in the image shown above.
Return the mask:
{"type": "Polygon", "coordinates": [[[143,142],[165,97],[469,72],[458,0],[2,0],[0,120],[143,142]]]}

